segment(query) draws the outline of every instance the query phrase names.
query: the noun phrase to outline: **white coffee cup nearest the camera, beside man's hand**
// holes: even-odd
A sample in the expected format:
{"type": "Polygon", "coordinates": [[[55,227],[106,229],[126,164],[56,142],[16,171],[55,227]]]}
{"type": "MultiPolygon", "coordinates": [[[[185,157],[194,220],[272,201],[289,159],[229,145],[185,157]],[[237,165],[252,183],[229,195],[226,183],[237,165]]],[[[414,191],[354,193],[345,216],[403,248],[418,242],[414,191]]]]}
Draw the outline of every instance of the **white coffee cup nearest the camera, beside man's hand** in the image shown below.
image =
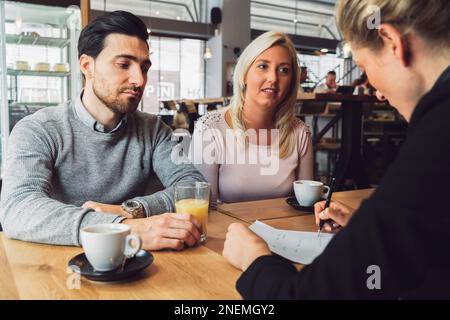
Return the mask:
{"type": "Polygon", "coordinates": [[[96,224],[81,230],[84,254],[96,271],[114,270],[125,256],[133,257],[139,252],[142,241],[130,232],[129,225],[120,223],[96,224]]]}

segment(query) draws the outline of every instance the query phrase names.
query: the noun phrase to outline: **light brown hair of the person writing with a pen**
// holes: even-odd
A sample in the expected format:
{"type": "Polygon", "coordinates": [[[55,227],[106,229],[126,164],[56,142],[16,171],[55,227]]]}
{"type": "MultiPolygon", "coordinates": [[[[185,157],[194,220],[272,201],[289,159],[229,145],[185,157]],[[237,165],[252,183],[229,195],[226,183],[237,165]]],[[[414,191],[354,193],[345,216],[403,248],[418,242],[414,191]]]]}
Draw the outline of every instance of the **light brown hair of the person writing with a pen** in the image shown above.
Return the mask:
{"type": "Polygon", "coordinates": [[[376,28],[368,27],[374,8],[380,23],[389,23],[403,35],[414,32],[430,49],[450,48],[450,6],[448,0],[339,0],[336,20],[346,41],[374,51],[383,47],[376,28]]]}

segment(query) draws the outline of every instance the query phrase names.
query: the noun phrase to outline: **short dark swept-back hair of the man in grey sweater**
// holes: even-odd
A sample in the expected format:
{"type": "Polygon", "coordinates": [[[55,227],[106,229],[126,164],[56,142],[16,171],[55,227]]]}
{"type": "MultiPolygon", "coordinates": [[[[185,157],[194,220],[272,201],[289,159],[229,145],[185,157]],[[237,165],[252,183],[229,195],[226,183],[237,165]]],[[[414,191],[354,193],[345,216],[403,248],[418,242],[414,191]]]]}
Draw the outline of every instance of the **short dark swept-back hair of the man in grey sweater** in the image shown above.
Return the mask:
{"type": "Polygon", "coordinates": [[[136,36],[147,43],[148,32],[145,23],[126,11],[107,12],[91,22],[81,31],[78,39],[78,58],[82,54],[93,57],[100,54],[105,38],[112,33],[136,36]]]}

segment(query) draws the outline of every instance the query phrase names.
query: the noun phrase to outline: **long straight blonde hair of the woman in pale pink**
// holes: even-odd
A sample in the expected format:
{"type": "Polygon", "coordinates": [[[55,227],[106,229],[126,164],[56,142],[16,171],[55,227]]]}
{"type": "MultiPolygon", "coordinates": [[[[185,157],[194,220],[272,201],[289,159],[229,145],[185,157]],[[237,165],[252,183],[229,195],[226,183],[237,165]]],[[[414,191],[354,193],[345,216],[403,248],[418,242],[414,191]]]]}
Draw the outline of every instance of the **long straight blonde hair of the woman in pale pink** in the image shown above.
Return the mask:
{"type": "Polygon", "coordinates": [[[233,97],[230,101],[229,113],[238,145],[247,147],[248,137],[243,135],[247,130],[244,121],[245,77],[256,58],[273,46],[286,48],[291,56],[292,78],[286,97],[281,101],[275,113],[275,128],[279,130],[279,157],[289,156],[295,147],[295,114],[294,107],[300,82],[297,62],[297,51],[287,35],[282,32],[268,31],[253,40],[242,52],[233,75],[233,97]]]}

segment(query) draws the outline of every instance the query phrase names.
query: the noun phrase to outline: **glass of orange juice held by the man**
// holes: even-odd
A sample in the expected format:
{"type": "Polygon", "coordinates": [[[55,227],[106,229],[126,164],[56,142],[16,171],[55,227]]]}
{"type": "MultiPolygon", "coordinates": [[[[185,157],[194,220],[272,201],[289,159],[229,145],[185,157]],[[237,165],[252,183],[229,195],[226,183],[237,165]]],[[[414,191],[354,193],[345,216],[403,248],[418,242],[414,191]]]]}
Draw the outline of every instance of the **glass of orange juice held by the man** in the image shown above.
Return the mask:
{"type": "Polygon", "coordinates": [[[209,208],[208,182],[178,182],[175,184],[175,211],[193,215],[202,224],[200,242],[206,241],[209,208]]]}

